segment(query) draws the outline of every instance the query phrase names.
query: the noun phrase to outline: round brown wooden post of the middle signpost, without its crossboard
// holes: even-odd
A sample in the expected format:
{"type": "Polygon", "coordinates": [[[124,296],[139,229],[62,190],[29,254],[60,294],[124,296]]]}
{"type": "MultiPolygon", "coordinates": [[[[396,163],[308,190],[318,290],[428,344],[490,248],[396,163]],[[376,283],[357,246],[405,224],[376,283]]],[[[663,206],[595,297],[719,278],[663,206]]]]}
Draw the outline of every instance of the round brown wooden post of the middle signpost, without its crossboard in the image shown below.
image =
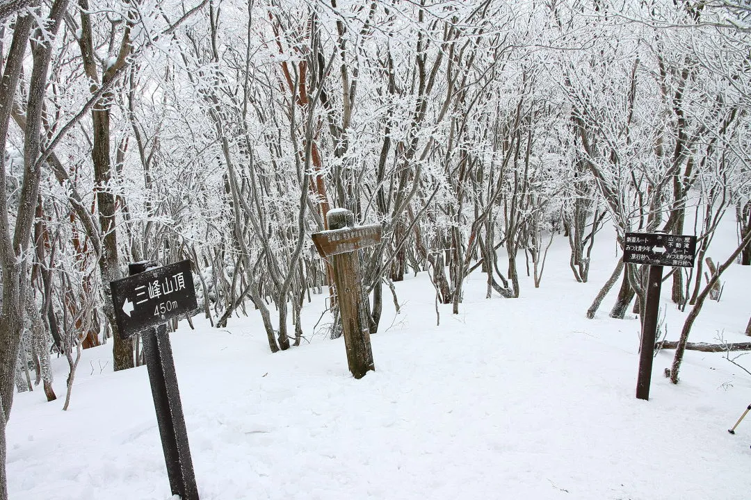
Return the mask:
{"type": "MultiPolygon", "coordinates": [[[[354,228],[354,214],[348,210],[332,210],[327,214],[330,230],[354,228]]],[[[370,347],[369,322],[366,317],[360,259],[357,251],[331,256],[333,280],[342,315],[344,344],[347,350],[349,371],[355,379],[361,379],[369,370],[375,371],[370,347]]]]}

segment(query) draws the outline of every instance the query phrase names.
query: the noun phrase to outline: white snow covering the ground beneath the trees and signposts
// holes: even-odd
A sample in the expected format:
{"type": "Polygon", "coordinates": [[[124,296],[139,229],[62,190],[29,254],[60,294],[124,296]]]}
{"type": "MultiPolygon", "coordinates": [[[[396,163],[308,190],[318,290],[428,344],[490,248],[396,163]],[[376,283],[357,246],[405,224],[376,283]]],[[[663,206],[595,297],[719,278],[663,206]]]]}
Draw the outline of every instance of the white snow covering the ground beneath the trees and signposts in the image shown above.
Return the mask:
{"type": "MultiPolygon", "coordinates": [[[[733,226],[716,239],[710,255],[724,260],[733,226]]],[[[556,238],[540,289],[523,277],[520,298],[486,299],[475,271],[460,314],[440,306],[440,325],[427,274],[410,275],[400,314],[385,289],[376,371],[360,380],[343,340],[314,333],[323,295],[303,309],[303,346],[273,355],[255,311],[222,329],[181,322],[171,339],[201,499],[748,499],[751,417],[727,430],[751,403],[751,376],[686,352],[671,385],[663,350],[650,401],[635,399],[638,319],[608,317],[616,290],[584,316],[618,258],[612,232],[598,235],[590,283],[576,283],[556,238]]],[[[749,340],[751,268],[723,281],[692,341],[749,340]]],[[[670,283],[677,340],[686,313],[670,283]]],[[[62,358],[59,400],[17,394],[12,500],[170,499],[146,367],[113,373],[110,360],[110,345],[84,352],[67,412],[62,358]]],[[[737,362],[751,369],[751,355],[737,362]]]]}

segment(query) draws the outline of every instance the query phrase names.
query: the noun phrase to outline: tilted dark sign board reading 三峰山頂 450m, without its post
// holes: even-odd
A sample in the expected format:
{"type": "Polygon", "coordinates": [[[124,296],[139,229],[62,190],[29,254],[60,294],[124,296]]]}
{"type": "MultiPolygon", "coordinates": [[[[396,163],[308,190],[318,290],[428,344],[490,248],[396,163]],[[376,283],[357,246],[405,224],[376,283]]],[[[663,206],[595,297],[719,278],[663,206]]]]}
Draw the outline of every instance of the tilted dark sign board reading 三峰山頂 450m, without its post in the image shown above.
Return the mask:
{"type": "Polygon", "coordinates": [[[123,339],[198,307],[189,260],[114,280],[110,289],[123,339]]]}

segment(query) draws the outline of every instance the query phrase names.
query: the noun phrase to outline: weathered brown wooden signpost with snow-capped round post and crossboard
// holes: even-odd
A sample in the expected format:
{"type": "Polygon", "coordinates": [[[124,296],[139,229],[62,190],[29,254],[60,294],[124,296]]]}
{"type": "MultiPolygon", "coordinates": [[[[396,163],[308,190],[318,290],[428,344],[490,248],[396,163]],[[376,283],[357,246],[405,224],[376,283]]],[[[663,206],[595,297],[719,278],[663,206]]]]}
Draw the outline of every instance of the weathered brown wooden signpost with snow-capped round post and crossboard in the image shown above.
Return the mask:
{"type": "Polygon", "coordinates": [[[354,214],[344,208],[330,210],[326,220],[329,230],[312,235],[313,243],[321,257],[330,260],[333,266],[349,371],[355,379],[360,379],[369,370],[375,370],[375,364],[357,250],[379,244],[382,227],[354,226],[354,214]]]}

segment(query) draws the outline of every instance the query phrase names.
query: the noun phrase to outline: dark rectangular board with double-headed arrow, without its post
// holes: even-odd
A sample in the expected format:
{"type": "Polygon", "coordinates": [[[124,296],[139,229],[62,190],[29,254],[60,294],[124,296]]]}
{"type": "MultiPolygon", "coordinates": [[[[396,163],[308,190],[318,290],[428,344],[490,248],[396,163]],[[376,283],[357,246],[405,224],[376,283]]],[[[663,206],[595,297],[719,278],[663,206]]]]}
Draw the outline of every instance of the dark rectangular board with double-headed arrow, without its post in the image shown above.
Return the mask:
{"type": "Polygon", "coordinates": [[[627,232],[623,245],[626,264],[694,267],[696,237],[650,232],[627,232]]]}

